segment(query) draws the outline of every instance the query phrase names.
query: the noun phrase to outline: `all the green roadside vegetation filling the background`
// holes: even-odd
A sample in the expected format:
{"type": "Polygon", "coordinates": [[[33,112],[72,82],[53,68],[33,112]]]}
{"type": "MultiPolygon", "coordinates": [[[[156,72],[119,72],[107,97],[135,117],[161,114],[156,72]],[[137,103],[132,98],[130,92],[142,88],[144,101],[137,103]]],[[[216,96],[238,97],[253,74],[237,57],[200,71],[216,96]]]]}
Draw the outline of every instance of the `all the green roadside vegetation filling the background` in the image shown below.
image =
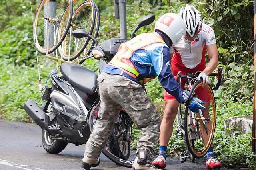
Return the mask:
{"type": "MultiPolygon", "coordinates": [[[[24,102],[34,100],[42,104],[38,88],[38,67],[43,86],[48,73],[55,68],[38,53],[32,39],[32,17],[36,13],[37,0],[0,1],[0,118],[10,121],[33,122],[23,109],[24,102]],[[32,12],[31,12],[32,9],[32,12]]],[[[120,37],[119,20],[114,14],[112,0],[95,0],[100,8],[99,42],[120,37]]],[[[217,125],[214,136],[214,155],[225,167],[255,169],[255,155],[251,153],[252,133],[240,135],[233,128],[224,129],[224,120],[231,116],[252,115],[254,93],[254,1],[178,1],[131,0],[126,3],[128,38],[136,23],[147,14],[158,19],[166,12],[178,13],[186,3],[200,10],[204,23],[215,31],[219,53],[219,65],[223,69],[225,86],[215,91],[217,125]]],[[[34,18],[33,18],[34,19],[34,18]]],[[[137,34],[153,31],[154,23],[143,27],[137,34]]],[[[207,58],[207,57],[206,57],[207,58]]],[[[85,66],[98,71],[97,60],[86,61],[85,66]]],[[[48,82],[49,83],[49,82],[48,82]]],[[[49,86],[49,84],[48,84],[49,86]]],[[[153,102],[162,102],[163,88],[158,79],[146,84],[153,102]]],[[[139,133],[139,132],[138,132],[139,133]]],[[[134,136],[136,139],[136,136],[134,136]]],[[[184,143],[175,135],[168,145],[168,155],[173,149],[185,151],[184,143]]]]}

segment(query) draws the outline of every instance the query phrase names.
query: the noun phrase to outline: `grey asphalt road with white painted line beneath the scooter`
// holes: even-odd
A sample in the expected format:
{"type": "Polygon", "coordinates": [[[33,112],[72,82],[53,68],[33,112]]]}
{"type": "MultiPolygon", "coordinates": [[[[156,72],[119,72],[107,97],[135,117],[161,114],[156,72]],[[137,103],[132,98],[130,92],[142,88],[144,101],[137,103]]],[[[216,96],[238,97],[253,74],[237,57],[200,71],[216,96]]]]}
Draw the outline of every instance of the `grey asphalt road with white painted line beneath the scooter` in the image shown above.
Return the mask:
{"type": "MultiPolygon", "coordinates": [[[[38,125],[0,119],[0,170],[82,170],[79,164],[84,145],[68,146],[59,154],[49,154],[42,147],[42,130],[38,125]]],[[[91,170],[129,170],[118,166],[103,154],[101,163],[91,170]]],[[[166,170],[207,170],[205,159],[180,163],[176,157],[167,158],[166,170]]],[[[222,170],[230,170],[222,168],[222,170]]]]}

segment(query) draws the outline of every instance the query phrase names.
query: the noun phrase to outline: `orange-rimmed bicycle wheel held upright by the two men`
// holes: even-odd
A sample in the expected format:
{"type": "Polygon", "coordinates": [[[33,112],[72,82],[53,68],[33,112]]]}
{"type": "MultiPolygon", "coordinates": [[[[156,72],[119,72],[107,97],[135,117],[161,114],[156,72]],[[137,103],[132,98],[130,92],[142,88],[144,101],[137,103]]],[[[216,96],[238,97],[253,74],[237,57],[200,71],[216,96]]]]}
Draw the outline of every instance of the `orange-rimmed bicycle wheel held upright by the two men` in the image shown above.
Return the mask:
{"type": "Polygon", "coordinates": [[[185,110],[185,139],[188,150],[195,158],[202,158],[207,154],[212,145],[216,127],[216,104],[212,88],[210,85],[203,88],[202,82],[203,80],[199,80],[194,84],[190,96],[197,98],[198,95],[201,95],[198,94],[200,91],[202,93],[201,100],[205,102],[206,110],[199,113],[190,111],[188,107],[185,110]]]}

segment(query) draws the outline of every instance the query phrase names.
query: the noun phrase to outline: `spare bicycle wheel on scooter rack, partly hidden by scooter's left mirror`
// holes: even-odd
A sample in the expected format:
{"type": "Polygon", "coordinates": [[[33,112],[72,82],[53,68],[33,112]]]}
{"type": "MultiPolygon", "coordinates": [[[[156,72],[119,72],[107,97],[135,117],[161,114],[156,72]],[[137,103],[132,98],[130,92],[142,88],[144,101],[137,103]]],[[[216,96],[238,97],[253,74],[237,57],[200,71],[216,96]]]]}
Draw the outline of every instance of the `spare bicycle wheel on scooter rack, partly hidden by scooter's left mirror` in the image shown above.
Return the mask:
{"type": "MultiPolygon", "coordinates": [[[[72,15],[72,27],[70,27],[62,45],[58,48],[60,56],[66,61],[72,61],[80,56],[90,40],[87,37],[76,39],[71,34],[72,30],[84,29],[89,34],[92,34],[94,30],[96,18],[94,2],[91,0],[83,1],[84,0],[73,0],[73,6],[76,7],[76,9],[72,15]]],[[[62,27],[60,27],[60,32],[62,31],[61,29],[62,27]]]]}

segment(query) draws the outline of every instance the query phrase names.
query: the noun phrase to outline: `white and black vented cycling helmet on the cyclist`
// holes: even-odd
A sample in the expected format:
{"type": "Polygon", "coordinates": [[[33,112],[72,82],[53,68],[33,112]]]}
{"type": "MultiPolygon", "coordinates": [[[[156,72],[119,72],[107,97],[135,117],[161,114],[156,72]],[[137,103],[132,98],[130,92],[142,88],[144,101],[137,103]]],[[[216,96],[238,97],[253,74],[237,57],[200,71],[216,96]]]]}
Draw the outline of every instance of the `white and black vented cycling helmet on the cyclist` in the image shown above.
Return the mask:
{"type": "Polygon", "coordinates": [[[186,4],[185,8],[180,9],[179,15],[186,23],[186,35],[190,37],[197,35],[203,23],[200,12],[194,6],[186,4]]]}

